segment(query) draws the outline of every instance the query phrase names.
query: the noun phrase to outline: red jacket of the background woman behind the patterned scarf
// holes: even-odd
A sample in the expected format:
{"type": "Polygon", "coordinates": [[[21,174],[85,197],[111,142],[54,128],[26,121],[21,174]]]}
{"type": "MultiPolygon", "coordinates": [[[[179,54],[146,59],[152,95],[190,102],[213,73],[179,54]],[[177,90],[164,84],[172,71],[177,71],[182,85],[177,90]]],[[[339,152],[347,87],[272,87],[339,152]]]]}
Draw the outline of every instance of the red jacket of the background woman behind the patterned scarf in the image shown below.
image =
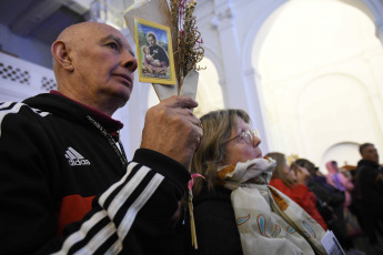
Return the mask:
{"type": "Polygon", "coordinates": [[[281,178],[272,178],[270,185],[289,196],[296,204],[299,204],[306,213],[312,216],[324,231],[327,231],[327,225],[316,208],[316,197],[308,186],[298,184],[289,187],[281,178]]]}

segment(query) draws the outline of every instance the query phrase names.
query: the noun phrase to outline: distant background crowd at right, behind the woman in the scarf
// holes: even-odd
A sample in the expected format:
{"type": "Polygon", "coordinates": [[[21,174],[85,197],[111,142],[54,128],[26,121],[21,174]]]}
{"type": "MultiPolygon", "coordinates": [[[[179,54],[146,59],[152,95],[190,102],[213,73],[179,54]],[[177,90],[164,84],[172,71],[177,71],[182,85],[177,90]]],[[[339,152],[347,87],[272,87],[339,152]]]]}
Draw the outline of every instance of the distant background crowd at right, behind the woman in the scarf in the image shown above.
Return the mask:
{"type": "Polygon", "coordinates": [[[306,159],[289,165],[284,154],[269,153],[276,160],[270,185],[333,231],[347,254],[383,254],[383,167],[374,144],[361,144],[360,154],[357,166],[329,161],[323,174],[306,159]]]}

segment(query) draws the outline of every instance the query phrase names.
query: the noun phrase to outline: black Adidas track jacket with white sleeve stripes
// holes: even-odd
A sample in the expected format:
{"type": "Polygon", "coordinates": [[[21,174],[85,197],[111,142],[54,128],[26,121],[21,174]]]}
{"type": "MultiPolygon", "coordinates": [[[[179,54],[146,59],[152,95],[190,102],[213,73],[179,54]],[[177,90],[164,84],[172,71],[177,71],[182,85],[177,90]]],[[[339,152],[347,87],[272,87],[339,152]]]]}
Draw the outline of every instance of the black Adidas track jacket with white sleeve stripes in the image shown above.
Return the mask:
{"type": "Polygon", "coordinates": [[[161,253],[189,172],[144,149],[123,164],[88,116],[121,128],[57,93],[0,103],[0,254],[161,253]]]}

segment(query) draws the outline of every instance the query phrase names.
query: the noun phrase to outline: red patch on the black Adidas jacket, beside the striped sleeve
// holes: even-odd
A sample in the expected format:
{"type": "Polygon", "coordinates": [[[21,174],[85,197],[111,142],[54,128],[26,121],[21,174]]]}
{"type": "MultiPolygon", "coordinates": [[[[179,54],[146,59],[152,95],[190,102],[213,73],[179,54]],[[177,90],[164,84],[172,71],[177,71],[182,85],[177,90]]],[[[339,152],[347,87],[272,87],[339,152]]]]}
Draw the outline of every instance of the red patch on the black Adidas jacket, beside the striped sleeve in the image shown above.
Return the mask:
{"type": "Polygon", "coordinates": [[[92,207],[94,196],[82,197],[69,195],[63,197],[58,212],[58,235],[61,236],[65,226],[80,221],[92,207]]]}

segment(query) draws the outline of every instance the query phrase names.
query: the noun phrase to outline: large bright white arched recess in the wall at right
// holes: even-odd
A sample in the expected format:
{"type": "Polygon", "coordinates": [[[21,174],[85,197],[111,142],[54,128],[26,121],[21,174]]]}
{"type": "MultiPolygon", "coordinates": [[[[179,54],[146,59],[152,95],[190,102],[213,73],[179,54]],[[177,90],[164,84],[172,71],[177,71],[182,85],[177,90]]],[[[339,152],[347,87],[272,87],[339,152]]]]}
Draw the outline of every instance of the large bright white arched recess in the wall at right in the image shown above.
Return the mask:
{"type": "Polygon", "coordinates": [[[272,19],[255,54],[270,149],[321,166],[331,156],[356,164],[357,146],[341,155],[336,144],[369,141],[382,151],[383,50],[371,19],[332,0],[291,0],[272,19]]]}

